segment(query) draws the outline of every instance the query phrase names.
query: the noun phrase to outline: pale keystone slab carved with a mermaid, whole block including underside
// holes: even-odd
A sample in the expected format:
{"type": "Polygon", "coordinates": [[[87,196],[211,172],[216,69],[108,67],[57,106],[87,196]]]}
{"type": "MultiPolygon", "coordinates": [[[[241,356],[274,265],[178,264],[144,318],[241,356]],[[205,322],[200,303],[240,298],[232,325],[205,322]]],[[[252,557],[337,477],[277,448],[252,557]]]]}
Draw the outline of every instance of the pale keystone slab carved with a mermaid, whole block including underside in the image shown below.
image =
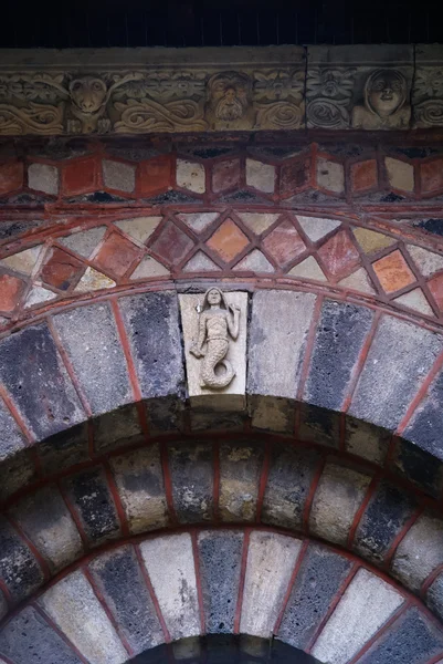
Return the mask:
{"type": "Polygon", "coordinates": [[[247,293],[212,287],[197,295],[180,294],[179,302],[191,404],[214,408],[213,397],[220,395],[220,407],[243,409],[247,293]]]}

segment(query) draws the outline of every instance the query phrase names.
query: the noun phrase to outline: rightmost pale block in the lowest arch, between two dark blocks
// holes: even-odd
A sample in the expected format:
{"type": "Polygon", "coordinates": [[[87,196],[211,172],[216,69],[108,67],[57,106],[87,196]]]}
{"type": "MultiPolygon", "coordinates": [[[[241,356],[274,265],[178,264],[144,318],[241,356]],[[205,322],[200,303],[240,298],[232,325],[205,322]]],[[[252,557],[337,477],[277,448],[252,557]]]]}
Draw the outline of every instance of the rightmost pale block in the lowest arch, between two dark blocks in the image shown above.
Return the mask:
{"type": "Polygon", "coordinates": [[[359,570],[319,635],[313,655],[348,662],[403,603],[403,596],[367,570],[359,570]]]}

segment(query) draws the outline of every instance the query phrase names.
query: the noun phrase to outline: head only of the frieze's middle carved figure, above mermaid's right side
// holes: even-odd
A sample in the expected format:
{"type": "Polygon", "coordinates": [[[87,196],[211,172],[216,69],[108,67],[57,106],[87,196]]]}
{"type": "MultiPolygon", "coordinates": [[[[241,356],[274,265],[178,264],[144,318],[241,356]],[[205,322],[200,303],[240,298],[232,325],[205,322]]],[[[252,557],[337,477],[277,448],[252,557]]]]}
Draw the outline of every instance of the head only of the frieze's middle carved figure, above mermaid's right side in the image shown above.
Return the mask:
{"type": "Polygon", "coordinates": [[[243,117],[251,103],[251,81],[245,74],[221,72],[208,82],[208,107],[217,120],[233,122],[243,117]]]}

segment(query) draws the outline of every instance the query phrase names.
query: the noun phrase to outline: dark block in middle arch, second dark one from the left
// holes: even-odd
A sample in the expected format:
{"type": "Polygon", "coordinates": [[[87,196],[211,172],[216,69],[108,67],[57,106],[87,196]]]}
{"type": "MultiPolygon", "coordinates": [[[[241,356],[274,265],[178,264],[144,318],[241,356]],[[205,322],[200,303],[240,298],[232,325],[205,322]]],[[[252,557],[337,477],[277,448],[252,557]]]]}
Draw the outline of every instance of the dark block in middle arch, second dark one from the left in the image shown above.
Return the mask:
{"type": "Polygon", "coordinates": [[[84,470],[64,483],[93,546],[118,537],[120,526],[104,471],[84,470]]]}

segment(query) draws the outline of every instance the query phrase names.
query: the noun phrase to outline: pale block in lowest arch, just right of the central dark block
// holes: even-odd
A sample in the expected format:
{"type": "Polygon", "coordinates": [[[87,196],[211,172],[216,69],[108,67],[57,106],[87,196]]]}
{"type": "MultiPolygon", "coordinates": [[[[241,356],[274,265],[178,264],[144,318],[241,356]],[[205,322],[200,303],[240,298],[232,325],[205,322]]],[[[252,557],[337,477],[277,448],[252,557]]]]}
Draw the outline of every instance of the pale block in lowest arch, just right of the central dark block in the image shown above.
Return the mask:
{"type": "Polygon", "coordinates": [[[251,535],[241,632],[271,636],[300,547],[299,540],[273,532],[251,535]]]}

